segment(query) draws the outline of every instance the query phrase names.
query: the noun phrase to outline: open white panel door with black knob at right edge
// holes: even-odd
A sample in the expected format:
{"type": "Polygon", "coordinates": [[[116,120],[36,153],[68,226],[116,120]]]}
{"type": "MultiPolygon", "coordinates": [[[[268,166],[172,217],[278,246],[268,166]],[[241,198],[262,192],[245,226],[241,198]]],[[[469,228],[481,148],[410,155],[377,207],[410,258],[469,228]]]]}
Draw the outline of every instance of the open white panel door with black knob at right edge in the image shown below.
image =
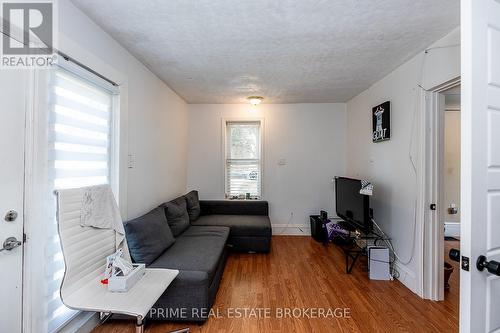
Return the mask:
{"type": "Polygon", "coordinates": [[[461,17],[460,331],[500,332],[500,1],[462,0],[461,17]]]}

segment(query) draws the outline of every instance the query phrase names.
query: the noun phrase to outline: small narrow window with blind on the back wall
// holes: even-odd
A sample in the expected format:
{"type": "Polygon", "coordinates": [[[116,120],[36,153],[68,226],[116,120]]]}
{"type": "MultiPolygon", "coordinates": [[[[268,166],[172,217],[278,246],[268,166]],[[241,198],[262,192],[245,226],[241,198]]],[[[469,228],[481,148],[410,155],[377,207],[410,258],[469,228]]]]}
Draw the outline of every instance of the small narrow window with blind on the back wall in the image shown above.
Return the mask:
{"type": "Polygon", "coordinates": [[[226,121],[225,188],[227,198],[262,196],[260,121],[226,121]]]}

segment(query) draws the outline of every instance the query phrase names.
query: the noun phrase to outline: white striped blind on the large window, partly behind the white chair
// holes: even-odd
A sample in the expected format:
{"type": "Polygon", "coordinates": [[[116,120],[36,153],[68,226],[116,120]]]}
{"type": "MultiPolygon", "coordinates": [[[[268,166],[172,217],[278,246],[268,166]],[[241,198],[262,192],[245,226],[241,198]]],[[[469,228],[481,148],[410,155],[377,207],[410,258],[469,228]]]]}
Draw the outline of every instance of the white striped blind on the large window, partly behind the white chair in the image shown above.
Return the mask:
{"type": "MultiPolygon", "coordinates": [[[[62,68],[54,71],[49,93],[48,181],[54,189],[110,182],[113,95],[62,68]]],[[[49,194],[48,194],[49,195],[49,194]]],[[[54,197],[52,195],[52,197],[54,197]]],[[[54,332],[75,315],[59,296],[64,261],[57,233],[55,198],[46,229],[46,327],[54,332]]]]}

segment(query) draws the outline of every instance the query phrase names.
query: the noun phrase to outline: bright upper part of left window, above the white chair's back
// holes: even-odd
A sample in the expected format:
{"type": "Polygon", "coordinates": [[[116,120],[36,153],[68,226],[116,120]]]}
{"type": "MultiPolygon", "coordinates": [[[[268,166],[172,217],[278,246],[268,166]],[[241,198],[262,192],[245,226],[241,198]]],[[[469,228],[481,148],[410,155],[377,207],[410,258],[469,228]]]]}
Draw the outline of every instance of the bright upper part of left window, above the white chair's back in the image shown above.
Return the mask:
{"type": "Polygon", "coordinates": [[[55,189],[110,181],[113,94],[65,70],[52,84],[49,163],[55,189]]]}

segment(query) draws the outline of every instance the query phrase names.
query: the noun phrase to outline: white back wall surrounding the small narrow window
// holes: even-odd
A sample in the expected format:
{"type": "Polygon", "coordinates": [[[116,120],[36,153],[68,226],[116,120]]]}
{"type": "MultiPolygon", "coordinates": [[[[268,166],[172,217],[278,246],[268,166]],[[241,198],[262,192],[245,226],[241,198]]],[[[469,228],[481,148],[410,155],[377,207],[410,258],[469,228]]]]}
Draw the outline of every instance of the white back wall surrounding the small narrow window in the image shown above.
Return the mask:
{"type": "Polygon", "coordinates": [[[309,233],[310,214],[334,213],[331,179],[345,173],[345,104],[191,104],[188,110],[188,188],[202,199],[224,198],[222,119],[264,118],[263,196],[275,233],[300,234],[296,226],[309,233]],[[282,158],[287,164],[280,166],[282,158]]]}

